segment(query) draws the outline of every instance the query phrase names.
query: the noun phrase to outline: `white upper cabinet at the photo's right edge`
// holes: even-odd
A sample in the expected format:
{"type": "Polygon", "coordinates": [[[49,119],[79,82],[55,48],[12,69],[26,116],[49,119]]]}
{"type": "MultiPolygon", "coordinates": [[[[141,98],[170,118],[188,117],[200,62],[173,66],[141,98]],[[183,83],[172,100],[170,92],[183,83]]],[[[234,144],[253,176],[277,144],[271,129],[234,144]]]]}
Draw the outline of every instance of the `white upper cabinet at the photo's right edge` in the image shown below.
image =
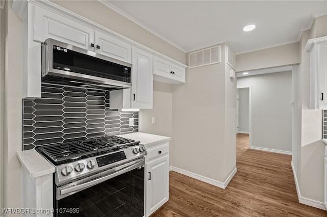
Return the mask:
{"type": "Polygon", "coordinates": [[[310,108],[327,110],[327,36],[310,39],[310,108]]]}

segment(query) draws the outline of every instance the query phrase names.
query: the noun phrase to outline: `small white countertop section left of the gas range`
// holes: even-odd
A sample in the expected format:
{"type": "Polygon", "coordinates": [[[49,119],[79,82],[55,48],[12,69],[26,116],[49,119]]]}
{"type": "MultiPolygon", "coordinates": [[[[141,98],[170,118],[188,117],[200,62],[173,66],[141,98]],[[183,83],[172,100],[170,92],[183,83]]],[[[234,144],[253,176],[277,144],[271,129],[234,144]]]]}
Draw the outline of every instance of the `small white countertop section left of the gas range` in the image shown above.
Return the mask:
{"type": "Polygon", "coordinates": [[[34,149],[17,151],[21,165],[27,169],[31,178],[48,175],[55,172],[55,167],[34,149]]]}

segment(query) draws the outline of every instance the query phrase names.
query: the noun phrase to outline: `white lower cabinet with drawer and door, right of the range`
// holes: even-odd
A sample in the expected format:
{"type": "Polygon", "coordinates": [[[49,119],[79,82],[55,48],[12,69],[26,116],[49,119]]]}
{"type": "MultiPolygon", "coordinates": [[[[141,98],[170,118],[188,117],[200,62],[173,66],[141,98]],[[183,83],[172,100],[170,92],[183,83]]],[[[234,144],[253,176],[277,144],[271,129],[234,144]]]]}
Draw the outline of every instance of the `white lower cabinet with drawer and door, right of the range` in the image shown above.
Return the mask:
{"type": "Polygon", "coordinates": [[[146,216],[169,199],[169,143],[147,149],[146,216]],[[149,160],[150,159],[150,160],[149,160]]]}

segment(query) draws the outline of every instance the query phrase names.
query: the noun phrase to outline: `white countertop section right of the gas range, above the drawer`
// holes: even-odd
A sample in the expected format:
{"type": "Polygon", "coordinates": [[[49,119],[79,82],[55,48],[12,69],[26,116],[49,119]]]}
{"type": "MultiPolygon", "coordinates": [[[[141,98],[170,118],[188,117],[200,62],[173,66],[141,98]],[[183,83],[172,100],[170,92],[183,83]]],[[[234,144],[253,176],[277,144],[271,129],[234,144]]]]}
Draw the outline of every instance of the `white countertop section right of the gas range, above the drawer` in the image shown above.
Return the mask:
{"type": "Polygon", "coordinates": [[[143,144],[145,147],[160,142],[168,142],[171,139],[170,137],[163,137],[162,135],[155,135],[155,134],[149,134],[144,132],[134,132],[134,133],[122,134],[119,136],[135,141],[140,141],[141,144],[143,144]]]}

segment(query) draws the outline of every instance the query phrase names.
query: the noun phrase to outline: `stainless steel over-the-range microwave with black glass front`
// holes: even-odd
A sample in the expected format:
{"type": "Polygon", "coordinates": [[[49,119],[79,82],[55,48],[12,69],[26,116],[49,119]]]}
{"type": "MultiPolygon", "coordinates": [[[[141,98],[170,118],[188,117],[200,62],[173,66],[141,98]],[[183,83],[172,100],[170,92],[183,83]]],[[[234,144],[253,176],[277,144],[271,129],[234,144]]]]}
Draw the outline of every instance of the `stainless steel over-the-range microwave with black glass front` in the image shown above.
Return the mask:
{"type": "Polygon", "coordinates": [[[54,39],[42,43],[42,82],[117,90],[132,87],[132,65],[54,39]]]}

